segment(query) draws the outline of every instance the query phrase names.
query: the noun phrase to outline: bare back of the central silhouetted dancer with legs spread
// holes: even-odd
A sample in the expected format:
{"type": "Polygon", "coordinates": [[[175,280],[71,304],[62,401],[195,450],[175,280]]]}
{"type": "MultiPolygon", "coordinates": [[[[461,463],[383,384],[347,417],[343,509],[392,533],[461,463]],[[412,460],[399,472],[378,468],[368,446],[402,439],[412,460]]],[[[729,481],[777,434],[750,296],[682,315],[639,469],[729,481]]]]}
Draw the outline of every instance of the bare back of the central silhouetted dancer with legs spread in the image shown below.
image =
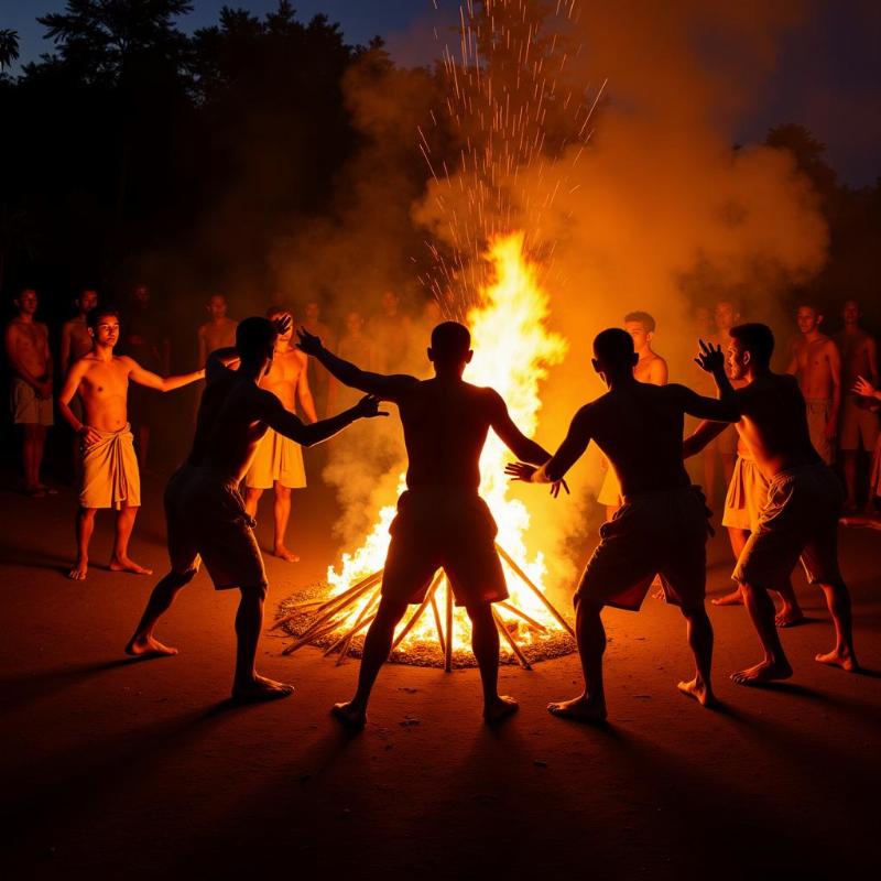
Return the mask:
{"type": "Polygon", "coordinates": [[[410,458],[410,489],[447,487],[477,492],[480,454],[496,393],[461,379],[414,383],[399,401],[410,458]]]}

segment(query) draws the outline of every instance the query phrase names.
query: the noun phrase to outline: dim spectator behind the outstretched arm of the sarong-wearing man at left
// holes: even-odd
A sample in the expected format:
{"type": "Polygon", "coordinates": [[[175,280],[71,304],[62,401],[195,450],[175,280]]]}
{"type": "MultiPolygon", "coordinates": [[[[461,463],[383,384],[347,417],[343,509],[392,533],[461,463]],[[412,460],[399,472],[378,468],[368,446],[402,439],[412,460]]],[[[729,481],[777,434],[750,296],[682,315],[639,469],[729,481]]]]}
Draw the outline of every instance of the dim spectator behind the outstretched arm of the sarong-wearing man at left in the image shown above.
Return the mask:
{"type": "MultiPolygon", "coordinates": [[[[171,370],[171,341],[163,333],[159,316],[151,303],[150,289],[138,284],[132,292],[126,313],[126,354],[144,370],[168,376],[171,370]]],[[[133,385],[129,396],[129,416],[138,440],[141,470],[148,468],[152,428],[160,422],[157,395],[151,395],[142,385],[133,385]]]]}

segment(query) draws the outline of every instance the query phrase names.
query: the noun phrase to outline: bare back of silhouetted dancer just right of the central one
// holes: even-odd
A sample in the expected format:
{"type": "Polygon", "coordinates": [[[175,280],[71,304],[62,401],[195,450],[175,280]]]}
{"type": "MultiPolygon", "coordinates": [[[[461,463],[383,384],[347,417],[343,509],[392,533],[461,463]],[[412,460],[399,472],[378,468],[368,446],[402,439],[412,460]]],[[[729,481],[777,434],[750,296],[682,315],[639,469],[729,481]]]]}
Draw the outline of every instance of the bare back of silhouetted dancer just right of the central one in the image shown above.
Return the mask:
{"type": "Polygon", "coordinates": [[[690,483],[682,459],[682,406],[667,393],[675,388],[628,383],[581,411],[589,412],[590,434],[614,467],[624,497],[690,483]]]}

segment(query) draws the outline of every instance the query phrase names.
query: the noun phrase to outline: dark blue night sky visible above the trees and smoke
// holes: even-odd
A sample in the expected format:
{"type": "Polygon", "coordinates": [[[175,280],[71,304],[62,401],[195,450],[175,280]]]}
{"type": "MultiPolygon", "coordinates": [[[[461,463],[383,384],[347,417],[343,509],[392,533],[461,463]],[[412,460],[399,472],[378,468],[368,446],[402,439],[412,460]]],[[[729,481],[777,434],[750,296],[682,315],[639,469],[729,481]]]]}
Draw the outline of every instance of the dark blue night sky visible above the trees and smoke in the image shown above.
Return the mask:
{"type": "MultiPolygon", "coordinates": [[[[771,0],[773,2],[773,0],[771,0]]],[[[181,25],[194,30],[217,21],[225,0],[195,0],[181,25]]],[[[226,0],[262,14],[276,0],[226,0]]],[[[295,0],[303,20],[323,12],[338,21],[350,43],[385,37],[401,63],[431,61],[437,54],[434,29],[442,30],[458,0],[295,0]]],[[[2,0],[0,28],[19,32],[22,61],[51,50],[35,17],[64,9],[64,0],[2,0]]],[[[739,140],[763,137],[769,126],[800,122],[828,146],[829,159],[849,184],[871,184],[881,175],[881,7],[875,0],[813,0],[801,25],[780,47],[777,69],[739,140]]]]}

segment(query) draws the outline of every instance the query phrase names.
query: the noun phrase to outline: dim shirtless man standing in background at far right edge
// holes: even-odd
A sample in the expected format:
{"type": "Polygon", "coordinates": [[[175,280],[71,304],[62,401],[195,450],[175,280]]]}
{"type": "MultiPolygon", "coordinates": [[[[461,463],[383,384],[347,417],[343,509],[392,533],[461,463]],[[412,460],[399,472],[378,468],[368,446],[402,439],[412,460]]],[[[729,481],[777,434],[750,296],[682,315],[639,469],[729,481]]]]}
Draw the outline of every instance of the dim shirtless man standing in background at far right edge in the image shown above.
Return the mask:
{"type": "MultiPolygon", "coordinates": [[[[841,388],[846,390],[841,398],[838,437],[847,487],[846,513],[857,510],[857,455],[860,448],[871,455],[879,435],[877,405],[853,391],[860,377],[871,385],[878,385],[878,346],[874,338],[860,327],[861,317],[857,301],[846,300],[841,309],[845,326],[835,335],[835,345],[841,355],[841,388]]],[[[870,505],[871,497],[867,500],[867,509],[870,505]]]]}

